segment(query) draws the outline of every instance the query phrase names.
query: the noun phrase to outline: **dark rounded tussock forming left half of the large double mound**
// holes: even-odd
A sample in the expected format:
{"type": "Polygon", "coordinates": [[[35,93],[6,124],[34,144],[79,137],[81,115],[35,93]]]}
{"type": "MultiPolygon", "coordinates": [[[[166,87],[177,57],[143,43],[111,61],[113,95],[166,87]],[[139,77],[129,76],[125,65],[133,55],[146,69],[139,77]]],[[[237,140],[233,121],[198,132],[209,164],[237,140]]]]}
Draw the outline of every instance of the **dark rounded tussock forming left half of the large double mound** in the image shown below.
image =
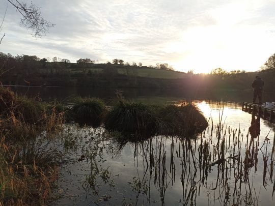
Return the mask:
{"type": "Polygon", "coordinates": [[[121,100],[107,113],[104,125],[107,130],[145,134],[155,130],[155,121],[152,106],[121,100]]]}

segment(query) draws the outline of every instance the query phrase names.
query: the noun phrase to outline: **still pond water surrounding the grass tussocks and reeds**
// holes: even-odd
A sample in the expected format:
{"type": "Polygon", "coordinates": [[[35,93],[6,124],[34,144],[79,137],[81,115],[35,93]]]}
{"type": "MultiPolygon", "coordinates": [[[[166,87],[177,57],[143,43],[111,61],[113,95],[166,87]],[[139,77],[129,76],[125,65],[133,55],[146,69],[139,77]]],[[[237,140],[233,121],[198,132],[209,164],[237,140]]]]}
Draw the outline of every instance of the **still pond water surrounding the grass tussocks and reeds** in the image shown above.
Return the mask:
{"type": "MultiPolygon", "coordinates": [[[[28,95],[37,94],[31,90],[28,95]]],[[[78,94],[111,102],[115,91],[55,90],[40,97],[63,100],[78,94]]],[[[69,161],[60,168],[54,191],[58,198],[51,204],[275,205],[275,127],[241,110],[241,102],[251,95],[124,91],[128,99],[154,104],[193,101],[209,127],[193,139],[155,136],[127,142],[103,128],[68,124],[63,137],[64,159],[69,161]]]]}

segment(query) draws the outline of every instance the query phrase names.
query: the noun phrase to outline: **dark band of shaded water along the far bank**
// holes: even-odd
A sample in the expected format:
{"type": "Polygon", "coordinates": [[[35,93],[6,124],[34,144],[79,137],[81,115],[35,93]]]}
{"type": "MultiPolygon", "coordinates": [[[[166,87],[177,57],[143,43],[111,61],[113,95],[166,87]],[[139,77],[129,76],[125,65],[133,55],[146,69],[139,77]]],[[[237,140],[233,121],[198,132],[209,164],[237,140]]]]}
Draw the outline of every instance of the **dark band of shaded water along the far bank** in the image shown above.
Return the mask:
{"type": "MultiPolygon", "coordinates": [[[[17,86],[11,87],[11,90],[20,95],[29,97],[40,97],[43,101],[68,101],[70,97],[98,97],[110,99],[115,97],[116,88],[94,88],[94,87],[40,87],[40,86],[17,86]]],[[[123,96],[128,99],[141,99],[151,103],[165,103],[166,101],[180,100],[211,100],[211,101],[234,101],[234,102],[252,102],[252,91],[197,91],[185,90],[162,90],[162,89],[119,89],[123,96]]],[[[275,101],[275,93],[263,93],[264,102],[275,101]]]]}

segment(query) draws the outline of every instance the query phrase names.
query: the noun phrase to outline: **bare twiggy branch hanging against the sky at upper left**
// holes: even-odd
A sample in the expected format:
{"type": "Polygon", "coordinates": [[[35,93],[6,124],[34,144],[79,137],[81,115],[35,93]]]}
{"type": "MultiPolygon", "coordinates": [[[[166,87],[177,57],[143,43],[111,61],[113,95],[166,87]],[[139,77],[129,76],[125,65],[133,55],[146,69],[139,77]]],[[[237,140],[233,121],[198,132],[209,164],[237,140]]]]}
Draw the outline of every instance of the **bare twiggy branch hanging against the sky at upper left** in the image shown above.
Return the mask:
{"type": "Polygon", "coordinates": [[[24,2],[19,2],[17,0],[7,0],[16,10],[22,15],[20,25],[33,30],[32,35],[34,37],[44,36],[48,32],[50,27],[55,24],[47,21],[41,15],[40,8],[31,3],[27,5],[24,2]]]}

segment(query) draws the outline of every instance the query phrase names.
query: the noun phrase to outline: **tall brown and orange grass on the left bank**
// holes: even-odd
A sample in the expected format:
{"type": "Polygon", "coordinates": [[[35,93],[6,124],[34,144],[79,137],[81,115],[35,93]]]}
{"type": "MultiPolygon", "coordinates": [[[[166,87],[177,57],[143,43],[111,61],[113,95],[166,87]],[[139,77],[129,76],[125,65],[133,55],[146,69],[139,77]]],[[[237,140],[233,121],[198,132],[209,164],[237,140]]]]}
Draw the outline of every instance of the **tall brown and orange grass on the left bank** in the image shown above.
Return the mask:
{"type": "Polygon", "coordinates": [[[3,87],[0,104],[0,205],[45,204],[60,160],[46,134],[60,130],[64,113],[3,87]]]}

